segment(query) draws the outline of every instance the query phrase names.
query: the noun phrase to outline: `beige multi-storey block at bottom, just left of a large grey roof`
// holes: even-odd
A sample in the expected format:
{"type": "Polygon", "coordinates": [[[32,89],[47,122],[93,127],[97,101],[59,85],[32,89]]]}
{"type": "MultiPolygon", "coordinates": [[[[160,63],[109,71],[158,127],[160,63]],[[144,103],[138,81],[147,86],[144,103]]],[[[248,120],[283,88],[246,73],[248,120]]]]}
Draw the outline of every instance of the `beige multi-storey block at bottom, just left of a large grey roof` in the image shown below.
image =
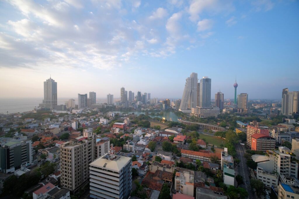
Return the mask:
{"type": "Polygon", "coordinates": [[[177,171],[175,177],[176,192],[193,196],[194,192],[194,171],[184,169],[177,171]]]}

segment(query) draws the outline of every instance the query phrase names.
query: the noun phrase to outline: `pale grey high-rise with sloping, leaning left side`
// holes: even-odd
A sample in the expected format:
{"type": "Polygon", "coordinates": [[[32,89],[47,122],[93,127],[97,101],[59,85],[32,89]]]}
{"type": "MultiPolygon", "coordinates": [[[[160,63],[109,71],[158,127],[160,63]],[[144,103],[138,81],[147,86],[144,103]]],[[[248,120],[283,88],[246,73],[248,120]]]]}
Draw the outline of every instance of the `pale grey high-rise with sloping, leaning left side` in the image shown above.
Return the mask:
{"type": "Polygon", "coordinates": [[[190,77],[187,77],[183,96],[181,99],[181,105],[179,110],[181,112],[190,113],[191,108],[195,108],[197,105],[197,86],[198,79],[197,73],[192,72],[190,77]]]}

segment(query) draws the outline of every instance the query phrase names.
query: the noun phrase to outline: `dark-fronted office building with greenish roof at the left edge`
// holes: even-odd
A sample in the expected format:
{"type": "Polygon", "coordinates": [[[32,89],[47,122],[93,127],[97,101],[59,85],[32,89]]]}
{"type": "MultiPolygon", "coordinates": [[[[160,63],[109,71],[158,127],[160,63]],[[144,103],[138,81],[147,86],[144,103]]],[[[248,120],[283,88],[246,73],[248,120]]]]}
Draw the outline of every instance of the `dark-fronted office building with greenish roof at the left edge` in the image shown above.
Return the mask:
{"type": "Polygon", "coordinates": [[[31,165],[32,149],[31,140],[11,140],[0,145],[1,172],[13,173],[21,165],[31,165]]]}

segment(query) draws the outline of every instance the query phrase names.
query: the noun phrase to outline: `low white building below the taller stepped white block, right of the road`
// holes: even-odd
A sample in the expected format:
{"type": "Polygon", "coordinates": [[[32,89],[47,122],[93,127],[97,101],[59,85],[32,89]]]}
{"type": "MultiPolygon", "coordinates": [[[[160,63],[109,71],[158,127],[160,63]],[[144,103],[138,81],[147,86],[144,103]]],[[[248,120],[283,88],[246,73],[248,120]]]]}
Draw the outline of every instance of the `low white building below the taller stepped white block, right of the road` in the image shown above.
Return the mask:
{"type": "Polygon", "coordinates": [[[277,186],[278,178],[277,173],[265,171],[262,167],[257,166],[257,179],[262,181],[266,187],[277,186]]]}

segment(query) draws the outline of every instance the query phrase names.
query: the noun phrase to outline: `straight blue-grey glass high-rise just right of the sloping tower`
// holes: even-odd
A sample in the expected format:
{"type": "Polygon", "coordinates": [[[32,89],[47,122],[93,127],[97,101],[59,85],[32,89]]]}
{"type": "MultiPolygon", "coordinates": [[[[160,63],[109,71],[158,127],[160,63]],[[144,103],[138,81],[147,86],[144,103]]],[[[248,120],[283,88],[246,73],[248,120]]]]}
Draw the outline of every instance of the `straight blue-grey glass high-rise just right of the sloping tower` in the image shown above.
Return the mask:
{"type": "Polygon", "coordinates": [[[199,107],[211,106],[211,79],[203,77],[200,80],[199,107]]]}

